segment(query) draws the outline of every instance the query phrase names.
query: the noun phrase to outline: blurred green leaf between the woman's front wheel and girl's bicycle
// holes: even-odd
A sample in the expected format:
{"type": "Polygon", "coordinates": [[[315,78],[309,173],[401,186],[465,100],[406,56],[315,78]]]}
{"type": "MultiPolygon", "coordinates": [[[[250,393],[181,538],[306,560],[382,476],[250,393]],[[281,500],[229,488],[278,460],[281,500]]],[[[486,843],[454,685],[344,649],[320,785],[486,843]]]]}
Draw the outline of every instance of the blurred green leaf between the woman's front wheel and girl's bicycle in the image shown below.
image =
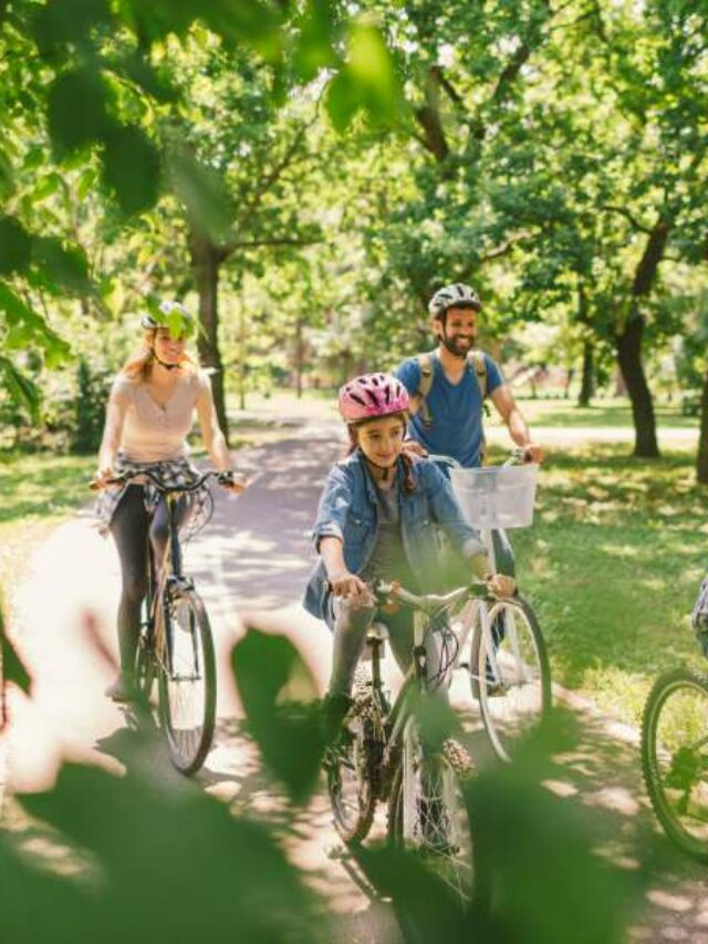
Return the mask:
{"type": "Polygon", "coordinates": [[[284,636],[253,629],[236,645],[231,664],[266,764],[294,800],[306,799],[317,782],[323,747],[310,671],[284,636]]]}

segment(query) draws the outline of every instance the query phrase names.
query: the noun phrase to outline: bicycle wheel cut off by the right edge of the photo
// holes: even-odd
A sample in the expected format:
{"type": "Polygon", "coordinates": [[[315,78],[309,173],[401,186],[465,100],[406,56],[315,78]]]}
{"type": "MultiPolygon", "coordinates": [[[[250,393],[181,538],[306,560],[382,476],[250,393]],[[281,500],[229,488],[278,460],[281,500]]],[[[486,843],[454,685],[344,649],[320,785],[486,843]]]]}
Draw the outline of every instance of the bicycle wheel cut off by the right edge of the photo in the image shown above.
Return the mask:
{"type": "Polygon", "coordinates": [[[642,719],[642,768],[668,837],[708,862],[708,676],[676,668],[657,678],[642,719]]]}

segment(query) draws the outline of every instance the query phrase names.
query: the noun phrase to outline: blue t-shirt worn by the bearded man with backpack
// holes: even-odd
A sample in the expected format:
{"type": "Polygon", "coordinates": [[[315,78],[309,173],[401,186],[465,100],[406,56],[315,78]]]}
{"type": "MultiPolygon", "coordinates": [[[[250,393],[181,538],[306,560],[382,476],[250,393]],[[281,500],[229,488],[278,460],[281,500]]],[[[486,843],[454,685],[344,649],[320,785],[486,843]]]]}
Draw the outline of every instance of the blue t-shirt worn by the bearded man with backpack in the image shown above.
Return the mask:
{"type": "MultiPolygon", "coordinates": [[[[487,395],[504,382],[492,359],[487,362],[487,395]]],[[[420,387],[420,365],[417,357],[408,357],[394,372],[410,396],[420,387]]],[[[471,365],[457,384],[445,376],[437,354],[433,355],[433,386],[427,396],[433,425],[426,429],[420,411],[410,417],[408,435],[417,439],[429,453],[452,456],[466,468],[475,468],[481,460],[482,398],[479,382],[471,365]]]]}

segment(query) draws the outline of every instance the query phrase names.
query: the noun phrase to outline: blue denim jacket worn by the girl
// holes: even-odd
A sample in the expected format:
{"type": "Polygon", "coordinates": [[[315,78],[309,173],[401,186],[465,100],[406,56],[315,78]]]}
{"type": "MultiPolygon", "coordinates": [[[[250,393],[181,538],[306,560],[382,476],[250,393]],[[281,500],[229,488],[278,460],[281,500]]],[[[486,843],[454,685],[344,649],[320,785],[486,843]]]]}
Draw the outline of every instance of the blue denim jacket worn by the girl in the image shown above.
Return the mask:
{"type": "MultiPolygon", "coordinates": [[[[435,463],[413,456],[416,488],[410,494],[404,489],[402,459],[398,459],[396,476],[400,533],[408,564],[421,592],[439,591],[445,573],[438,528],[466,558],[485,553],[485,546],[479,533],[464,519],[450,483],[435,463]]],[[[376,546],[377,501],[374,483],[358,449],[331,469],[324,485],[313,531],[315,548],[327,537],[343,542],[347,570],[361,573],[376,546]]],[[[310,575],[303,604],[313,615],[331,622],[329,578],[322,560],[310,575]]]]}

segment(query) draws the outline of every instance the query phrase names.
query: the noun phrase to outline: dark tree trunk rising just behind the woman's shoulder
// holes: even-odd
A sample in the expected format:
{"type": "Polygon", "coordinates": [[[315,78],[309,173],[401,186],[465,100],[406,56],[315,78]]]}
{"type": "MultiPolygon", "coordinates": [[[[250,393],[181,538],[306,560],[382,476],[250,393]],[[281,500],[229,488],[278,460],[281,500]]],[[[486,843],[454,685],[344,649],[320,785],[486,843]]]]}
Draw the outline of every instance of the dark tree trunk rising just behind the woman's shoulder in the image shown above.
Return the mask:
{"type": "Polygon", "coordinates": [[[189,253],[199,293],[199,321],[202,331],[197,341],[197,350],[202,366],[210,367],[211,390],[221,432],[229,442],[229,423],[226,415],[223,365],[219,351],[219,267],[222,252],[204,235],[189,231],[189,253]]]}

